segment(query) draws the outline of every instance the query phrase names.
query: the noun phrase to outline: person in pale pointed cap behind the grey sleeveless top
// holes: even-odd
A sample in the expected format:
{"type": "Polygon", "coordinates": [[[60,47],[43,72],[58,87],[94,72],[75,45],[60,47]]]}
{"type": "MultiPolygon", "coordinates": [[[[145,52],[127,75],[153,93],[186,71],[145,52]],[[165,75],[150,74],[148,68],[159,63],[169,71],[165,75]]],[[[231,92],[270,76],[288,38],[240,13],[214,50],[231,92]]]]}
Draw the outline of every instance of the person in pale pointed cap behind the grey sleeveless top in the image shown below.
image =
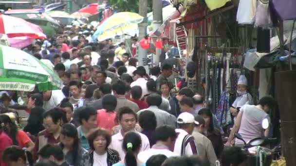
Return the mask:
{"type": "Polygon", "coordinates": [[[236,117],[240,111],[240,108],[245,105],[253,105],[253,98],[251,94],[247,92],[247,78],[244,75],[240,75],[237,86],[237,98],[230,107],[232,116],[236,117]]]}

